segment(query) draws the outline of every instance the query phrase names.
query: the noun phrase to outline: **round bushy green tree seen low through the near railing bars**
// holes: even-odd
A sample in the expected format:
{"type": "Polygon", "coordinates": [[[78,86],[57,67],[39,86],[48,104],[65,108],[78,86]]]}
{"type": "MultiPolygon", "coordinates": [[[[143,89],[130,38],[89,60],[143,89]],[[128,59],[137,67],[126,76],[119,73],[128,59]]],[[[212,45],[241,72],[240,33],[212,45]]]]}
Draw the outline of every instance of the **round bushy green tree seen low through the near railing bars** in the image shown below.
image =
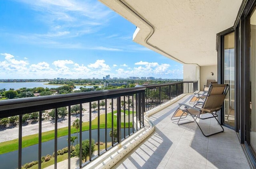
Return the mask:
{"type": "MultiPolygon", "coordinates": [[[[95,151],[94,140],[92,140],[91,148],[92,148],[92,154],[93,154],[94,151],[95,151]]],[[[89,149],[90,149],[90,141],[88,139],[87,140],[83,140],[82,141],[82,159],[85,160],[85,161],[87,160],[86,157],[90,155],[89,149]]],[[[77,157],[80,156],[80,145],[79,144],[77,144],[76,147],[75,147],[75,155],[77,157]]]]}

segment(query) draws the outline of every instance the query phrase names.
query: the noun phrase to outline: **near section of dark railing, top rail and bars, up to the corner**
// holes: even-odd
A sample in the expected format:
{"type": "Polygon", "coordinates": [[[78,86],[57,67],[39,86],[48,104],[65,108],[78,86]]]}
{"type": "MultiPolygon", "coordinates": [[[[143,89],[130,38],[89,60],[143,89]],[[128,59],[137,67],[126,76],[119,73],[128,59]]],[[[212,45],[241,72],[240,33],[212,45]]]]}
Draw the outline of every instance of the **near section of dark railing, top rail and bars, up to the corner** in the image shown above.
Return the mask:
{"type": "MultiPolygon", "coordinates": [[[[66,136],[68,138],[67,146],[68,146],[68,168],[70,168],[70,159],[71,159],[71,126],[72,122],[74,122],[74,118],[71,118],[71,109],[74,105],[79,105],[78,116],[76,119],[78,121],[78,144],[79,144],[79,165],[78,168],[86,165],[93,159],[105,153],[108,149],[114,147],[118,143],[121,143],[122,140],[140,130],[140,128],[144,127],[144,93],[146,87],[136,87],[136,88],[122,88],[115,90],[100,90],[94,92],[80,92],[80,93],[72,93],[72,94],[61,94],[54,96],[39,96],[32,98],[18,98],[18,99],[10,99],[10,100],[1,100],[0,101],[0,118],[11,118],[14,116],[18,117],[18,164],[17,166],[2,166],[4,168],[21,168],[24,165],[24,159],[26,159],[26,139],[22,137],[24,132],[30,133],[30,128],[26,128],[22,130],[22,119],[25,114],[38,112],[38,153],[34,155],[36,161],[38,161],[38,168],[41,168],[41,158],[42,156],[42,138],[44,138],[44,134],[42,133],[42,129],[44,125],[42,125],[42,114],[46,112],[53,112],[52,120],[52,128],[54,137],[54,168],[57,167],[57,158],[58,158],[58,130],[59,130],[59,121],[61,118],[58,118],[60,115],[60,108],[64,108],[66,110],[65,118],[68,120],[68,130],[66,131],[66,136]],[[102,104],[104,102],[104,104],[102,104]],[[95,104],[96,106],[95,106],[95,104]],[[110,106],[107,106],[107,105],[110,106]],[[86,107],[87,110],[84,110],[83,107],[86,107]],[[100,110],[100,108],[102,109],[100,110]],[[89,110],[88,110],[89,109],[89,110]],[[94,111],[92,111],[94,109],[94,111]],[[94,116],[94,119],[92,118],[94,116]],[[88,119],[88,127],[82,121],[84,118],[88,119]],[[96,118],[95,118],[96,117],[96,118]],[[72,120],[71,120],[72,119],[72,120]],[[89,134],[87,136],[89,140],[89,152],[87,152],[88,156],[84,157],[84,150],[82,144],[84,142],[84,134],[82,134],[82,128],[88,128],[89,134]],[[115,129],[116,128],[116,129],[115,129]],[[96,145],[92,139],[92,132],[96,129],[96,145]],[[101,130],[104,130],[104,134],[100,134],[101,130]],[[26,131],[28,130],[28,131],[26,131]],[[109,132],[110,131],[110,132],[109,132]],[[108,138],[108,136],[110,138],[108,138]],[[22,141],[23,140],[23,141],[22,141]],[[104,141],[102,141],[104,140],[104,141]],[[25,141],[25,142],[24,142],[25,141]],[[101,142],[105,143],[104,148],[100,146],[101,142]],[[94,152],[94,149],[98,149],[94,152]],[[82,151],[81,151],[82,150],[82,151]],[[82,159],[88,160],[84,161],[82,159]]],[[[62,116],[62,115],[61,115],[62,116]]],[[[63,118],[64,119],[64,118],[63,118]]],[[[61,124],[61,123],[60,123],[61,124]]],[[[74,123],[73,123],[74,124],[74,123]]],[[[31,128],[32,129],[32,128],[31,128]]],[[[4,137],[3,135],[1,135],[4,137]]],[[[33,135],[34,136],[34,135],[33,135]]],[[[84,146],[84,145],[83,145],[84,146]]],[[[6,152],[9,153],[9,152],[6,152]]],[[[32,153],[32,152],[29,152],[32,153]]],[[[4,155],[4,154],[0,154],[4,155]]],[[[0,159],[1,160],[1,159],[0,159]]],[[[10,159],[10,163],[14,159],[10,159]]],[[[34,160],[33,160],[34,161],[34,160]]],[[[29,161],[26,161],[29,162],[29,161]]],[[[2,163],[1,163],[2,164],[2,163]]]]}

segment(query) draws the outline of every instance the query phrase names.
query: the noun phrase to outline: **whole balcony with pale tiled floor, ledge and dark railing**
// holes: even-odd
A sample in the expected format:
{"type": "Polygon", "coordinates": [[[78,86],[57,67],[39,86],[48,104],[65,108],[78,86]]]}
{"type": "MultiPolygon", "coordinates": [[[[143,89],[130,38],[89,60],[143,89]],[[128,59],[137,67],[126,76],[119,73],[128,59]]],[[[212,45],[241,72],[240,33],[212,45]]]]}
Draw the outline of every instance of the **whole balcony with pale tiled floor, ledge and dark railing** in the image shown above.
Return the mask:
{"type": "MultiPolygon", "coordinates": [[[[45,137],[43,111],[53,109],[56,117],[58,108],[68,107],[66,117],[68,123],[64,136],[60,132],[63,128],[61,118],[52,120],[54,154],[51,160],[53,165],[47,168],[248,168],[234,130],[224,128],[224,133],[206,138],[196,124],[178,126],[177,120],[170,119],[178,102],[188,102],[191,93],[197,90],[197,86],[197,81],[178,82],[1,101],[0,118],[19,116],[19,128],[16,128],[18,146],[13,155],[17,159],[11,159],[15,166],[8,167],[10,159],[5,158],[7,164],[5,165],[8,168],[21,168],[28,161],[42,159],[46,155],[43,151],[47,148],[43,141],[45,137]],[[100,109],[101,100],[106,103],[102,109],[100,109]],[[92,111],[94,110],[93,102],[98,103],[95,111],[92,111]],[[79,157],[72,157],[70,148],[70,138],[76,133],[72,130],[74,118],[70,110],[77,104],[80,110],[75,117],[80,120],[79,124],[82,126],[78,132],[78,143],[82,143],[82,140],[85,140],[84,137],[88,138],[87,160],[83,160],[82,151],[79,157]],[[84,110],[83,107],[88,110],[84,110]],[[32,128],[30,130],[29,126],[22,126],[22,114],[31,112],[39,112],[36,131],[32,128]],[[86,123],[83,123],[86,122],[84,119],[88,120],[88,130],[84,129],[86,127],[86,123]],[[116,138],[113,134],[109,138],[109,130],[114,132],[114,128],[117,130],[116,138]],[[26,147],[24,142],[26,135],[34,133],[36,133],[34,137],[38,140],[38,145],[29,151],[29,153],[35,151],[33,153],[36,154],[30,160],[24,152],[27,151],[25,150],[28,149],[27,147],[34,145],[26,147]],[[94,134],[96,136],[93,136],[94,134]],[[60,136],[66,137],[65,141],[61,140],[60,136]],[[67,139],[69,141],[66,141],[67,139]],[[98,144],[94,145],[93,140],[98,144]],[[103,145],[100,145],[100,142],[103,145]],[[58,156],[60,156],[58,145],[62,143],[68,147],[68,156],[64,161],[58,162],[58,156]],[[94,153],[92,153],[93,147],[96,147],[94,153]]],[[[206,124],[204,130],[214,130],[214,122],[210,119],[202,123],[206,124]],[[207,125],[209,123],[210,128],[207,125]]],[[[82,149],[82,144],[79,145],[79,149],[82,149]]],[[[5,154],[1,155],[2,158],[5,154]]],[[[39,160],[37,163],[34,167],[43,168],[44,160],[39,160]]]]}

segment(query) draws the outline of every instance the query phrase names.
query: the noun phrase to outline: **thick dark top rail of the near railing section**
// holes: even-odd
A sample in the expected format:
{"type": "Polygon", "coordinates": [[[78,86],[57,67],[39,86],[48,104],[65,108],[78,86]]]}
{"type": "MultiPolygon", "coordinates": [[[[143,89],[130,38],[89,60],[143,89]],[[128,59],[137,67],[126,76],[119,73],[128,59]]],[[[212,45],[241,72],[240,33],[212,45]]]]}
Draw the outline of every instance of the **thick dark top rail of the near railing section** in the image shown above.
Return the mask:
{"type": "Polygon", "coordinates": [[[0,101],[0,118],[48,110],[56,107],[92,102],[105,98],[114,98],[143,92],[146,87],[120,88],[113,90],[99,90],[92,92],[79,92],[70,94],[58,94],[54,96],[39,96],[30,98],[16,98],[0,101]],[[15,110],[15,113],[12,112],[15,110]],[[19,113],[17,114],[17,112],[19,113]]]}

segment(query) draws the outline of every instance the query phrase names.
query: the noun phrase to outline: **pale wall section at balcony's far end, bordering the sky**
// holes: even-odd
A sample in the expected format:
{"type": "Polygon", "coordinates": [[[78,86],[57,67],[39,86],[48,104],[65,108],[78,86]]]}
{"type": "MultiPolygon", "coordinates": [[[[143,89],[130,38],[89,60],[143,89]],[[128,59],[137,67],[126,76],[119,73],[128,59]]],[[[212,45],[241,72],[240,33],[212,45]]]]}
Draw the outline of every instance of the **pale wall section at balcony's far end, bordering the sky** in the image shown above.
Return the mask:
{"type": "Polygon", "coordinates": [[[198,81],[198,88],[200,88],[200,67],[194,64],[183,64],[183,81],[198,81]]]}

